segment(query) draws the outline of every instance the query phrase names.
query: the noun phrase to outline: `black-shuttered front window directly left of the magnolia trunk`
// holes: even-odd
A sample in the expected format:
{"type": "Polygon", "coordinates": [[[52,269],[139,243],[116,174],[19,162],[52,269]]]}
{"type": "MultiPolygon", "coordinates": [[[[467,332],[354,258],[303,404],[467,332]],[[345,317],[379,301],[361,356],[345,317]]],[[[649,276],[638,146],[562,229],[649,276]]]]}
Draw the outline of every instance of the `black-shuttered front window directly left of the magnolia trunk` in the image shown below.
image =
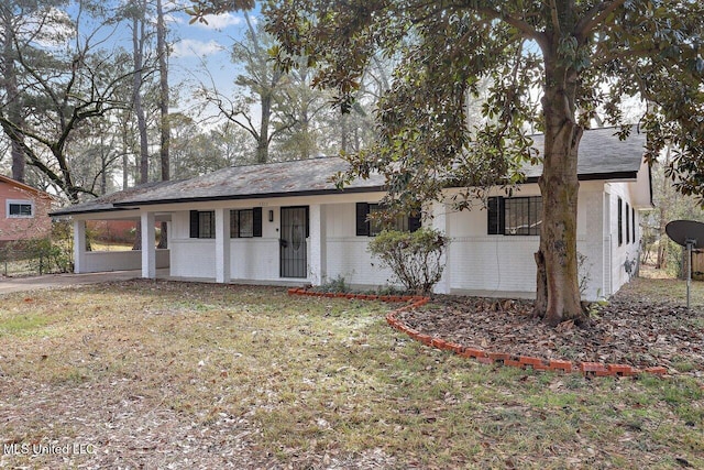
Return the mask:
{"type": "Polygon", "coordinates": [[[488,234],[539,236],[542,223],[542,198],[490,197],[488,234]]]}

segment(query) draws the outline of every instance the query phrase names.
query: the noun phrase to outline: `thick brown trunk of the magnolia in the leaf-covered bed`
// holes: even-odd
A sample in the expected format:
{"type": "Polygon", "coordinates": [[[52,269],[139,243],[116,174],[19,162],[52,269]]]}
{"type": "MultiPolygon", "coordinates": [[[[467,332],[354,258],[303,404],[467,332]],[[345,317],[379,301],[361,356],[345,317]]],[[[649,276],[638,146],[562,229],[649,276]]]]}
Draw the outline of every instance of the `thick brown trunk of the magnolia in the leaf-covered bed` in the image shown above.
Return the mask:
{"type": "Polygon", "coordinates": [[[542,100],[546,119],[542,225],[538,263],[536,314],[549,325],[583,320],[578,261],[578,147],[583,129],[575,122],[576,74],[546,59],[542,100]]]}

